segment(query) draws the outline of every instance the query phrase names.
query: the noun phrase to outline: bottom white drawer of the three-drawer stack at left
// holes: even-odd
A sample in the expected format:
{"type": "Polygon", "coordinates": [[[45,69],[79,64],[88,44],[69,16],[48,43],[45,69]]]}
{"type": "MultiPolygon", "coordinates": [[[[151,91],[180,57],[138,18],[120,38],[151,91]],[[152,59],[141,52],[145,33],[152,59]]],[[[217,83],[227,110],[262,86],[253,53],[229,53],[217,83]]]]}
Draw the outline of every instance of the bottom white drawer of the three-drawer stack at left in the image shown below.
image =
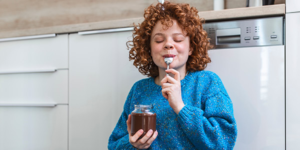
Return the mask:
{"type": "Polygon", "coordinates": [[[67,149],[67,110],[0,106],[0,149],[67,149]]]}

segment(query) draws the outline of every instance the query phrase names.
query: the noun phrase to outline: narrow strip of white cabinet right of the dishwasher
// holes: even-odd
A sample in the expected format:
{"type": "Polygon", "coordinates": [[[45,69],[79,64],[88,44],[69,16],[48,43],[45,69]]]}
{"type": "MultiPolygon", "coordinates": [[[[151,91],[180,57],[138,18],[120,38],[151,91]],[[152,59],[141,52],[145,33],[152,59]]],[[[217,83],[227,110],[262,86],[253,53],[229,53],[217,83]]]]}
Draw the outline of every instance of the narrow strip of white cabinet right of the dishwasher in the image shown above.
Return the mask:
{"type": "Polygon", "coordinates": [[[298,149],[300,141],[300,12],[286,13],[286,149],[298,149]]]}

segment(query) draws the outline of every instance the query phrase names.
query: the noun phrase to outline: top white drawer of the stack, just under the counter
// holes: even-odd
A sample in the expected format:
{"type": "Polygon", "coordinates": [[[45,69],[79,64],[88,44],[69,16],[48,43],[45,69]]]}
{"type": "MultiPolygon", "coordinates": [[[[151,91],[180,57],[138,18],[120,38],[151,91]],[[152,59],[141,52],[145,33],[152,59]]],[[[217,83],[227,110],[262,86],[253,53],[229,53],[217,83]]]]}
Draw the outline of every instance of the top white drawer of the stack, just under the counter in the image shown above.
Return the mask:
{"type": "Polygon", "coordinates": [[[0,42],[0,72],[68,67],[68,35],[0,42]]]}

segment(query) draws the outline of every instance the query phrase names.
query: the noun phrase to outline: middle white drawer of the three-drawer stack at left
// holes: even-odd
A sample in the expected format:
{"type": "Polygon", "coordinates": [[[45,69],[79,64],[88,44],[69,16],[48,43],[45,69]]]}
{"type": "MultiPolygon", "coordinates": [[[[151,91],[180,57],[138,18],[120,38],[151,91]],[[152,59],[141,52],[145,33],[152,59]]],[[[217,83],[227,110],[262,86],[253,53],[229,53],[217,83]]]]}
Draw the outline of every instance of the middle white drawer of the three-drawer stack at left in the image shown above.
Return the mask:
{"type": "Polygon", "coordinates": [[[68,70],[0,74],[0,105],[68,103],[68,70]]]}

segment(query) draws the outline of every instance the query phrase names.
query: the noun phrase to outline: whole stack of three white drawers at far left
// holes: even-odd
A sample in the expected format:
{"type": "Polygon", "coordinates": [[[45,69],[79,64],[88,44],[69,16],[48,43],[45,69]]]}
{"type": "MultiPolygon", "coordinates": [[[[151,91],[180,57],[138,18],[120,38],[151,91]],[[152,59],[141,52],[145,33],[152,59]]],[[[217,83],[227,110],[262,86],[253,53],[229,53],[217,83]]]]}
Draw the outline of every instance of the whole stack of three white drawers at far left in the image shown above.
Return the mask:
{"type": "Polygon", "coordinates": [[[67,34],[0,42],[0,149],[67,149],[67,104],[67,34]]]}

